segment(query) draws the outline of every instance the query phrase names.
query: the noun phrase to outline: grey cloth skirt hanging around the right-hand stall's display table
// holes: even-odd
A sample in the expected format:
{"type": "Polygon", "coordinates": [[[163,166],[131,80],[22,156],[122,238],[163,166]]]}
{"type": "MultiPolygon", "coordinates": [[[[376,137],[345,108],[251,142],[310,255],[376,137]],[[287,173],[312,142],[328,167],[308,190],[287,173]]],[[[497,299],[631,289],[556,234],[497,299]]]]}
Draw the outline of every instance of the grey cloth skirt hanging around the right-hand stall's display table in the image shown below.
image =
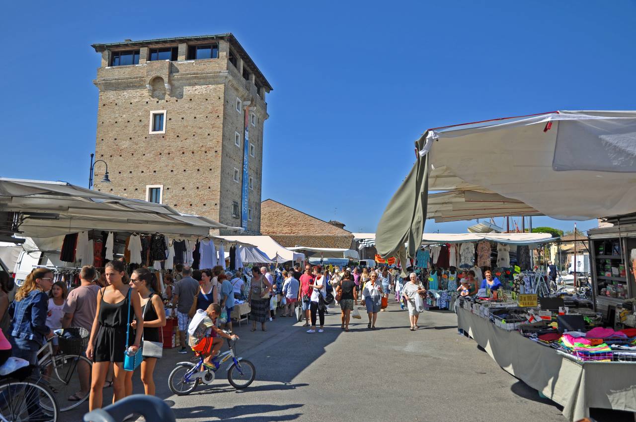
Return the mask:
{"type": "Polygon", "coordinates": [[[457,327],[505,371],[563,405],[570,421],[590,416],[590,407],[636,412],[636,364],[577,362],[463,308],[457,327]]]}

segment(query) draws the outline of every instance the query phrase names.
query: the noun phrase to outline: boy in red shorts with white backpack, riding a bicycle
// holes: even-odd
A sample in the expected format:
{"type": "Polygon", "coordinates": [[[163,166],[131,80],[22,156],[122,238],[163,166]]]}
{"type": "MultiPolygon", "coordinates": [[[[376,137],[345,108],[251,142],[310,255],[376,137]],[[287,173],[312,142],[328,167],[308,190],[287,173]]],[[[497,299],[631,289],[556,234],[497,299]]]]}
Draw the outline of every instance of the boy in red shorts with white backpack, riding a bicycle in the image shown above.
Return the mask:
{"type": "Polygon", "coordinates": [[[219,368],[219,362],[214,361],[214,357],[221,350],[223,338],[239,339],[236,334],[230,336],[216,326],[216,319],[220,315],[221,306],[218,303],[212,303],[205,311],[197,310],[190,325],[188,325],[188,334],[190,334],[188,344],[190,344],[193,351],[200,355],[205,355],[205,369],[213,369],[215,371],[219,368]]]}

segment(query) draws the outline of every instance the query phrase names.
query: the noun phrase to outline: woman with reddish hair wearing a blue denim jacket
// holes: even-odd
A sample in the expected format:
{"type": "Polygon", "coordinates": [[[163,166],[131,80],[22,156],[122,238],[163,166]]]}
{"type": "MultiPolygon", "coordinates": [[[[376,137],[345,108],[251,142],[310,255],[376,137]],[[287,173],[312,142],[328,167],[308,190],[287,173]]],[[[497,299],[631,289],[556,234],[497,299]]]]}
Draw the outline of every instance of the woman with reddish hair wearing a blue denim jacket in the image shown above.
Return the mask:
{"type": "Polygon", "coordinates": [[[53,337],[52,330],[46,326],[48,313],[48,294],[53,285],[53,272],[48,268],[38,268],[24,280],[11,303],[9,314],[11,323],[10,341],[13,344],[13,356],[38,362],[38,350],[45,339],[53,337]]]}

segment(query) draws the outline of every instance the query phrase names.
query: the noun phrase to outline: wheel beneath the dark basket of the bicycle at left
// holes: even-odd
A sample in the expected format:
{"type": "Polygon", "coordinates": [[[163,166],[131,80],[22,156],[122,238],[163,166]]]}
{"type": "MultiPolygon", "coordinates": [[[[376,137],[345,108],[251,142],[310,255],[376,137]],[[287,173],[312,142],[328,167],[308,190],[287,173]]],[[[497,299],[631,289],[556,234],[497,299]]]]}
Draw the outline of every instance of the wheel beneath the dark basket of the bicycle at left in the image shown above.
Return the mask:
{"type": "Polygon", "coordinates": [[[90,385],[86,385],[86,394],[81,395],[81,397],[78,396],[79,400],[69,401],[69,397],[81,391],[78,365],[84,365],[88,371],[87,373],[90,374],[93,362],[80,355],[59,355],[54,357],[53,360],[47,359],[42,364],[42,381],[50,386],[53,394],[55,394],[55,398],[57,398],[57,402],[60,405],[60,412],[78,407],[90,394],[88,390],[90,385]]]}

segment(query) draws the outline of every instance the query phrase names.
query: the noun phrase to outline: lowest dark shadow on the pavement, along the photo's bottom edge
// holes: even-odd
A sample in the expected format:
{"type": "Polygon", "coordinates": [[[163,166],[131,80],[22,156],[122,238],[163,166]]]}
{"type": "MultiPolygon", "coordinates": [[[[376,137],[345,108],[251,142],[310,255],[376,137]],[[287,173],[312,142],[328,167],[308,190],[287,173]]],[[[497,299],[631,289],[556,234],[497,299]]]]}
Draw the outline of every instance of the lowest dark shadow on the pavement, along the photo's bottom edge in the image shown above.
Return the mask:
{"type": "Polygon", "coordinates": [[[190,406],[181,409],[172,409],[178,421],[183,419],[209,418],[205,421],[235,421],[235,422],[268,422],[268,421],[293,421],[301,416],[301,413],[291,413],[284,415],[267,415],[269,412],[282,412],[290,409],[298,409],[303,404],[259,404],[259,405],[239,405],[221,409],[214,406],[190,406]],[[247,416],[254,415],[254,416],[247,416]]]}

